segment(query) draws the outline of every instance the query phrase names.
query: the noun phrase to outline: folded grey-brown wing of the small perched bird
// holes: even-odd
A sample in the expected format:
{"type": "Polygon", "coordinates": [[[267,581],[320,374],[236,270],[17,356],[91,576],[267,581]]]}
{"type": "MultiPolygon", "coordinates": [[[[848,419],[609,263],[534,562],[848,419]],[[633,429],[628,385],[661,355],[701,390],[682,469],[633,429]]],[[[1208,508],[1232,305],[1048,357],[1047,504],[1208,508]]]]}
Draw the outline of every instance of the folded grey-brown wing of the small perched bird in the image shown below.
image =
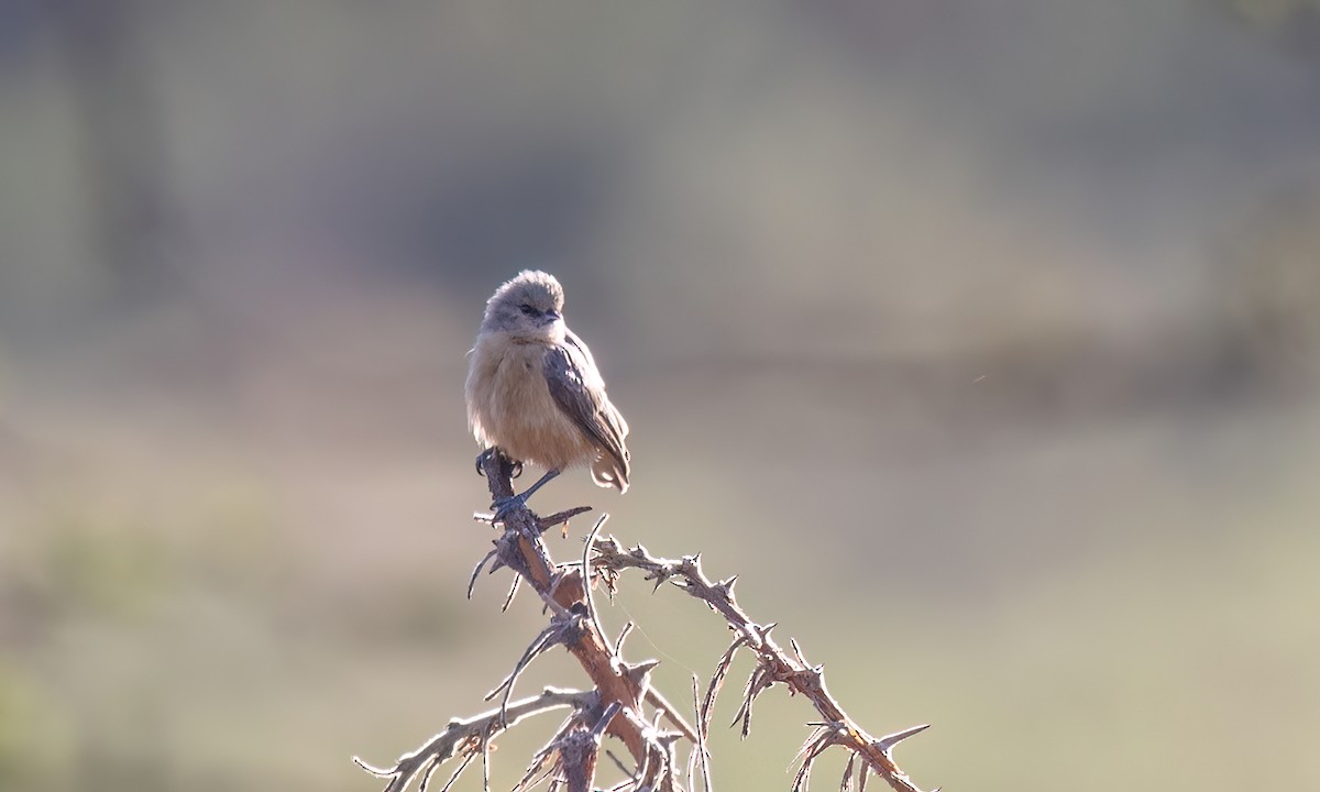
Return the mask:
{"type": "Polygon", "coordinates": [[[623,445],[623,438],[628,434],[628,424],[610,404],[591,351],[573,333],[565,335],[562,345],[546,350],[545,383],[564,414],[602,451],[614,457],[618,467],[627,475],[628,449],[623,445]]]}

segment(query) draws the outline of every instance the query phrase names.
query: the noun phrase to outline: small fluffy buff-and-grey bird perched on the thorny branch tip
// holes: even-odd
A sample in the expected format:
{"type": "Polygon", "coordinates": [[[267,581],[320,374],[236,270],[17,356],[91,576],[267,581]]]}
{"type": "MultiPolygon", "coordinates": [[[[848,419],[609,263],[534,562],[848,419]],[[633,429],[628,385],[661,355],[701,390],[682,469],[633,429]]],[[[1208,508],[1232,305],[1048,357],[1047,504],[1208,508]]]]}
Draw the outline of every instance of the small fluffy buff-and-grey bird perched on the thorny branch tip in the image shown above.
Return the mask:
{"type": "Polygon", "coordinates": [[[602,487],[628,490],[628,424],[562,310],[564,288],[554,276],[520,272],[486,302],[469,352],[467,421],[486,449],[478,471],[495,453],[546,469],[521,495],[494,503],[496,520],[574,465],[590,465],[602,487]]]}

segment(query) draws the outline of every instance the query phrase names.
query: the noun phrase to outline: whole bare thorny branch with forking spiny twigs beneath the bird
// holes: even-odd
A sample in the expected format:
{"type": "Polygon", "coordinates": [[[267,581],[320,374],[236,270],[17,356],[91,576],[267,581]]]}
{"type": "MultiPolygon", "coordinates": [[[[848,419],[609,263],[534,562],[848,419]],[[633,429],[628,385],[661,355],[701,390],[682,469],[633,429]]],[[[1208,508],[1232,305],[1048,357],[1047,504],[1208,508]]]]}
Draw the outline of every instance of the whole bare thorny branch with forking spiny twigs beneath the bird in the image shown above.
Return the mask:
{"type": "MultiPolygon", "coordinates": [[[[482,471],[487,477],[494,499],[513,495],[513,463],[495,454],[487,458],[482,471]]],[[[504,609],[512,602],[519,583],[525,582],[541,598],[545,610],[550,611],[550,623],[528,645],[508,677],[487,694],[487,700],[502,697],[499,708],[469,719],[451,721],[445,731],[416,751],[401,756],[388,770],[371,767],[354,758],[354,762],[367,772],[389,779],[384,792],[404,792],[418,776],[418,792],[426,792],[432,775],[442,763],[455,756],[459,758],[459,766],[441,792],[447,792],[478,756],[482,759],[483,789],[488,792],[488,755],[494,738],[527,715],[564,706],[573,708],[572,714],[560,725],[545,747],[532,758],[513,792],[525,792],[546,781],[549,792],[556,792],[561,787],[566,792],[594,789],[601,741],[606,734],[622,741],[634,762],[630,770],[612,752],[609,754],[624,774],[631,775],[615,789],[684,792],[677,780],[678,763],[673,747],[677,741],[686,738],[693,743],[688,758],[688,787],[696,789],[700,770],[701,785],[710,792],[708,744],[710,718],[715,698],[739,649],[750,651],[756,659],[734,718],[735,723],[741,722],[743,737],[751,729],[751,711],[756,697],[776,684],[801,693],[821,715],[820,721],[808,723],[814,730],[797,754],[801,764],[793,777],[793,792],[805,792],[816,759],[833,746],[849,752],[840,784],[842,792],[854,788],[857,792],[865,792],[869,774],[879,775],[898,792],[921,792],[894,763],[891,752],[900,741],[923,731],[927,726],[916,726],[878,739],[863,731],[825,689],[822,667],[809,665],[793,640],[789,640],[793,651],[791,656],[770,636],[774,624],[756,624],[743,612],[733,594],[737,578],[711,582],[701,570],[698,556],[677,561],[657,558],[640,545],[626,550],[614,537],[597,539],[605,517],[597,521],[587,537],[581,562],[554,564],[541,535],[586,511],[590,508],[577,507],[539,517],[531,510],[519,507],[500,520],[504,532],[494,541],[494,549],[473,570],[467,595],[471,597],[477,579],[487,564],[490,573],[508,568],[516,574],[504,609]],[[593,578],[599,573],[612,591],[612,582],[623,569],[645,572],[647,579],[655,581],[656,590],[665,582],[684,589],[722,614],[735,632],[733,643],[715,664],[704,696],[700,693],[698,680],[693,677],[696,729],[688,726],[676,708],[651,688],[649,676],[657,661],[635,664],[623,661],[620,649],[632,628],[631,623],[624,626],[612,644],[606,640],[590,585],[583,585],[583,570],[593,578]],[[564,645],[582,664],[595,689],[578,692],[546,688],[540,696],[511,701],[513,685],[528,664],[557,644],[564,645]],[[644,704],[655,708],[652,718],[647,717],[644,704]],[[661,730],[659,727],[661,718],[667,718],[678,731],[661,730]]],[[[484,521],[492,520],[490,515],[475,516],[484,521]]]]}

